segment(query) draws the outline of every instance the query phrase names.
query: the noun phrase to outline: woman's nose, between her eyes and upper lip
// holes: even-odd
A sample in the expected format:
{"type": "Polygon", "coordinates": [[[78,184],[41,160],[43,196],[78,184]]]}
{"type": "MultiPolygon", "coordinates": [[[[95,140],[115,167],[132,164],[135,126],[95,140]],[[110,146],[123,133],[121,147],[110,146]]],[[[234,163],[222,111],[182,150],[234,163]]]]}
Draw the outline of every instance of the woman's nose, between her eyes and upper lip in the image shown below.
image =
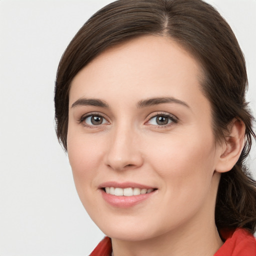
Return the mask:
{"type": "Polygon", "coordinates": [[[105,164],[113,170],[134,169],[143,164],[139,134],[130,128],[116,127],[111,131],[105,164]]]}

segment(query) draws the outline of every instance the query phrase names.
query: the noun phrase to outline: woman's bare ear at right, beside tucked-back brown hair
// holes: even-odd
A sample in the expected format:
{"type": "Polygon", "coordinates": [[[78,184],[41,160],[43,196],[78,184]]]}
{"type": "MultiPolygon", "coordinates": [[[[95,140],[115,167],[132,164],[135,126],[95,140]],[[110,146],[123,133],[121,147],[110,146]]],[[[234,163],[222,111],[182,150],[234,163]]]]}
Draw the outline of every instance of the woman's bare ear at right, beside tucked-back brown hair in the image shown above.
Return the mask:
{"type": "Polygon", "coordinates": [[[222,151],[215,166],[217,172],[226,172],[232,169],[244,145],[245,125],[241,120],[234,118],[228,125],[228,131],[229,134],[225,136],[222,151]]]}

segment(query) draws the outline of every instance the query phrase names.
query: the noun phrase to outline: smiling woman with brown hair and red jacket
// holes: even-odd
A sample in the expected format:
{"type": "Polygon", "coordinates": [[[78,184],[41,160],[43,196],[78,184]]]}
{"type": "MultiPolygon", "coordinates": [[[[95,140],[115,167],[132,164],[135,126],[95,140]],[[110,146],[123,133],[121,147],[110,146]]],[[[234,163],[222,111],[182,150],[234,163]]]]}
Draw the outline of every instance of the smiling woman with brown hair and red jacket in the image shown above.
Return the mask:
{"type": "Polygon", "coordinates": [[[107,235],[91,255],[256,254],[246,87],[234,34],[201,0],[119,0],[80,28],[55,119],[107,235]]]}

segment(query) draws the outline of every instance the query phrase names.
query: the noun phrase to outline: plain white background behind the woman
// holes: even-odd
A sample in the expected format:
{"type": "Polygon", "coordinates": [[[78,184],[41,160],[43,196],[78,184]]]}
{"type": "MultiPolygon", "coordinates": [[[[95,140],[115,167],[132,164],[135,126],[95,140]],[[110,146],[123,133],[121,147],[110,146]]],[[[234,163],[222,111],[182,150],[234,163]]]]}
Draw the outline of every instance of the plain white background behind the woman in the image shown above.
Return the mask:
{"type": "MultiPolygon", "coordinates": [[[[0,255],[88,255],[103,237],[83,209],[54,132],[62,52],[111,0],[0,1],[0,255]]],[[[256,109],[256,0],[208,0],[233,28],[256,109]]],[[[256,176],[255,145],[251,167],[256,176]]],[[[104,214],[102,212],[102,214],[104,214]]]]}

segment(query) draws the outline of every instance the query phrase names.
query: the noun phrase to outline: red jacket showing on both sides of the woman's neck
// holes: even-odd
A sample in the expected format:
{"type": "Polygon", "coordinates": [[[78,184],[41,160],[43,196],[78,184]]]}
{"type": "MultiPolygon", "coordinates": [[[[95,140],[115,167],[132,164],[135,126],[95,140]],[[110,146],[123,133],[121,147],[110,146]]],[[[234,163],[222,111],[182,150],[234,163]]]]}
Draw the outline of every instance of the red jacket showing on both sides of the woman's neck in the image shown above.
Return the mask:
{"type": "MultiPolygon", "coordinates": [[[[213,256],[256,256],[256,240],[245,229],[222,230],[224,244],[213,256]]],[[[111,256],[112,245],[109,237],[104,237],[89,256],[111,256]]]]}

